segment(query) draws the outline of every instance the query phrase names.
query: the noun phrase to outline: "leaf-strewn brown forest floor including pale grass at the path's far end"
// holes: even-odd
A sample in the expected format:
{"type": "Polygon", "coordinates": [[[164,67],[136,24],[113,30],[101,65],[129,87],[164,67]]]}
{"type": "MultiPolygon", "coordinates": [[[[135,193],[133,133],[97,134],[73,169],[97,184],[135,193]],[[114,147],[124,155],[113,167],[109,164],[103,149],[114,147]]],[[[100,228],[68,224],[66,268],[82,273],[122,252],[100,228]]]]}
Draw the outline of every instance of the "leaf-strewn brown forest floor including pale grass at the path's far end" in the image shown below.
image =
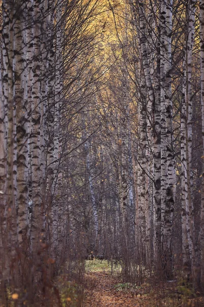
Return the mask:
{"type": "MultiPolygon", "coordinates": [[[[148,283],[130,286],[122,283],[120,274],[111,275],[105,263],[98,268],[89,262],[85,276],[83,307],[203,307],[204,299],[186,289],[166,285],[154,288],[148,283]]],[[[118,272],[117,272],[118,273],[118,272]]]]}

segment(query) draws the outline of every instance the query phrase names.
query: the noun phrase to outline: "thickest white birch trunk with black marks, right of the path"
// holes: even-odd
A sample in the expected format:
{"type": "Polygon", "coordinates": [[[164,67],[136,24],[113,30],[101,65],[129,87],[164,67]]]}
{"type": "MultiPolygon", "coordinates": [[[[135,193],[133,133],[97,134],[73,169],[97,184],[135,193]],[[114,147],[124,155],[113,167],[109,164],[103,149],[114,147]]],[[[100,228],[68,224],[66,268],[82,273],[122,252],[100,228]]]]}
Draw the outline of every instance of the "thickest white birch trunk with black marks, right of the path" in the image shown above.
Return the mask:
{"type": "Polygon", "coordinates": [[[171,94],[172,1],[161,2],[161,206],[164,278],[172,278],[172,214],[175,200],[171,94]],[[167,177],[166,177],[167,174],[167,177]]]}

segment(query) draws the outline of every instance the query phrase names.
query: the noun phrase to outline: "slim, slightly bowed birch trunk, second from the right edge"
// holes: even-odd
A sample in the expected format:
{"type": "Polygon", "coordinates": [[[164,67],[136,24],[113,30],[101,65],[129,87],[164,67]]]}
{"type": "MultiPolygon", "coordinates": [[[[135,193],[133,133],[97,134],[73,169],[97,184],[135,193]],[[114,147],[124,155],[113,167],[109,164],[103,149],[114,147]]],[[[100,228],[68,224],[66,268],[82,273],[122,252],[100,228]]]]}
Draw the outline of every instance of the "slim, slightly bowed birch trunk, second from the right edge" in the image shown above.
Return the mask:
{"type": "Polygon", "coordinates": [[[198,286],[198,271],[196,259],[196,242],[195,242],[195,226],[193,215],[193,199],[192,199],[192,50],[194,45],[195,32],[195,4],[196,1],[189,0],[187,7],[187,33],[186,33],[186,117],[185,117],[185,201],[186,201],[186,227],[189,244],[189,252],[191,258],[191,270],[193,275],[194,286],[198,286]]]}

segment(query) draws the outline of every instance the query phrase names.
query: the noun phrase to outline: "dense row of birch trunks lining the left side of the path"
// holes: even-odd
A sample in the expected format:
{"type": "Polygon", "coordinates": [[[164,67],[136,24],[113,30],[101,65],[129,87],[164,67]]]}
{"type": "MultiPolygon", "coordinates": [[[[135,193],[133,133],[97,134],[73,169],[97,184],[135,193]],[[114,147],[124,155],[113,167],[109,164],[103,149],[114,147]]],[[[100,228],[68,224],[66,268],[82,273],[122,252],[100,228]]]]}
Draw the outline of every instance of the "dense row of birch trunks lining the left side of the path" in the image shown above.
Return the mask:
{"type": "MultiPolygon", "coordinates": [[[[4,253],[1,272],[5,284],[11,287],[25,286],[28,279],[37,284],[44,265],[45,202],[48,207],[53,199],[54,170],[57,173],[60,151],[62,32],[57,31],[55,51],[49,49],[55,37],[54,6],[53,1],[3,1],[2,4],[0,201],[4,253]],[[51,68],[54,55],[57,73],[51,68]],[[54,96],[58,99],[56,112],[54,96]],[[49,106],[48,113],[45,105],[49,106]],[[45,128],[45,116],[56,117],[55,123],[47,121],[45,128]],[[28,277],[29,258],[32,272],[28,277]],[[18,266],[20,274],[15,273],[18,266]]],[[[61,11],[58,10],[56,29],[62,19],[62,2],[58,6],[61,11]]]]}

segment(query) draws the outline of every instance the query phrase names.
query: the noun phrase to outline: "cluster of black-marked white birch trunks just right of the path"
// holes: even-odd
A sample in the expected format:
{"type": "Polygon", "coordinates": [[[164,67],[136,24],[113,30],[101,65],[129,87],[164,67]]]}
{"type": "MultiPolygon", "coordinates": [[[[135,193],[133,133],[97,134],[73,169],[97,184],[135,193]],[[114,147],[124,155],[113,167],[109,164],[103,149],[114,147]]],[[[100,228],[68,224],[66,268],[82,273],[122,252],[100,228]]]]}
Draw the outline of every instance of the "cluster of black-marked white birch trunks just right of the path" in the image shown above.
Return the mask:
{"type": "MultiPolygon", "coordinates": [[[[143,226],[145,229],[143,233],[148,250],[147,254],[151,254],[147,258],[152,259],[152,247],[149,242],[154,237],[155,264],[156,267],[160,267],[163,270],[164,278],[168,279],[172,278],[171,239],[172,213],[175,198],[175,159],[173,153],[170,75],[172,3],[170,1],[160,2],[159,8],[160,19],[156,20],[155,23],[152,21],[156,18],[155,8],[152,9],[150,4],[144,4],[140,1],[135,2],[133,13],[135,14],[136,28],[139,33],[141,62],[144,74],[144,85],[140,82],[139,86],[141,92],[143,89],[142,105],[145,117],[142,116],[141,109],[140,127],[144,127],[143,134],[146,148],[142,150],[143,156],[141,157],[143,158],[139,163],[141,167],[140,173],[143,173],[144,177],[143,181],[140,180],[140,190],[146,189],[144,192],[146,193],[146,208],[143,209],[146,215],[146,222],[143,226]],[[139,9],[138,16],[136,13],[137,8],[139,9]],[[138,27],[137,19],[139,19],[138,27]],[[157,25],[157,27],[149,30],[149,23],[153,26],[157,25]],[[156,39],[157,36],[155,35],[157,31],[161,35],[158,38],[158,42],[156,39]],[[154,47],[151,47],[151,43],[154,47]],[[156,62],[154,50],[155,54],[157,54],[156,62]],[[159,54],[158,51],[160,52],[159,54]],[[153,59],[152,62],[151,59],[153,59]],[[152,118],[151,114],[153,114],[152,118]],[[154,137],[154,142],[152,141],[152,137],[154,137]],[[143,160],[145,161],[145,165],[142,165],[143,160]],[[152,177],[152,172],[154,173],[154,178],[152,177]],[[151,189],[152,182],[154,182],[154,189],[151,189]],[[153,204],[150,205],[152,203],[151,198],[154,200],[154,216],[151,213],[151,206],[153,206],[153,204]],[[155,224],[154,234],[150,233],[150,225],[152,223],[155,224]]],[[[144,146],[142,145],[142,139],[144,139],[142,138],[142,131],[140,130],[141,148],[144,146]]],[[[144,203],[142,197],[143,193],[140,192],[139,208],[144,203]]],[[[139,220],[139,223],[141,223],[140,218],[139,220]]],[[[142,241],[145,242],[145,240],[142,241]]]]}

